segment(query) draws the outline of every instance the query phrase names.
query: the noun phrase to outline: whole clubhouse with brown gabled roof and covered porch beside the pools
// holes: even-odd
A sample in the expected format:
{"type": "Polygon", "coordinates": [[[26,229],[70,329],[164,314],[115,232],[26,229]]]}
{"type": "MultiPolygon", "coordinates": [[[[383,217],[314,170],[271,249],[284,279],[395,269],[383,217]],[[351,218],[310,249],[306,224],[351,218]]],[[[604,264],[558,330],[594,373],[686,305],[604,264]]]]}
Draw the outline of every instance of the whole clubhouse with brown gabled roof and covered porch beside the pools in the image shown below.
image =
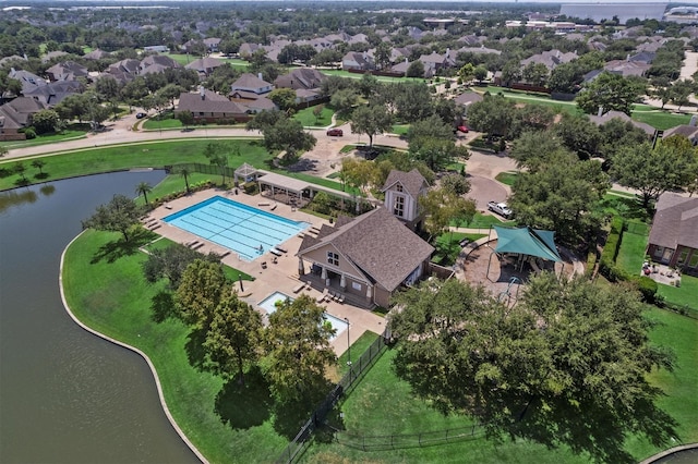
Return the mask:
{"type": "Polygon", "coordinates": [[[298,251],[299,272],[354,303],[389,307],[392,295],[429,270],[434,247],[386,208],[357,218],[339,217],[317,236],[305,234],[298,251]]]}

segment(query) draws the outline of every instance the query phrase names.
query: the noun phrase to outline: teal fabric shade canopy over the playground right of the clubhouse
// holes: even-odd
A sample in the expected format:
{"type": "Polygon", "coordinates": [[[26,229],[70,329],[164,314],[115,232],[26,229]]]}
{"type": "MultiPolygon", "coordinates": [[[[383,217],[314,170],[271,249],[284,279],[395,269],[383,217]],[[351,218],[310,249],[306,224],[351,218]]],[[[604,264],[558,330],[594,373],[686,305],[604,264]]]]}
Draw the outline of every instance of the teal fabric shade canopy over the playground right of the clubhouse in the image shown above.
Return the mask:
{"type": "Polygon", "coordinates": [[[515,253],[535,256],[550,261],[559,262],[563,259],[557,253],[553,231],[531,228],[507,229],[494,225],[497,232],[496,253],[515,253]]]}

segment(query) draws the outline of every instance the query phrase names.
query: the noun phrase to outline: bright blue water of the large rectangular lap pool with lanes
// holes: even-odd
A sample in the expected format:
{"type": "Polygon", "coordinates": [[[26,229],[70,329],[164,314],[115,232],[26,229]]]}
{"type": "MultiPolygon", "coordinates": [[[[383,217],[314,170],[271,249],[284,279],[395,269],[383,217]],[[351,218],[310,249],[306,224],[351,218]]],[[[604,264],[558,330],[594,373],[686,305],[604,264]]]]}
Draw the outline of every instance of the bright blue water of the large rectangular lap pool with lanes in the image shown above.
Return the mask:
{"type": "Polygon", "coordinates": [[[164,218],[174,227],[254,260],[308,228],[268,211],[215,196],[164,218]]]}

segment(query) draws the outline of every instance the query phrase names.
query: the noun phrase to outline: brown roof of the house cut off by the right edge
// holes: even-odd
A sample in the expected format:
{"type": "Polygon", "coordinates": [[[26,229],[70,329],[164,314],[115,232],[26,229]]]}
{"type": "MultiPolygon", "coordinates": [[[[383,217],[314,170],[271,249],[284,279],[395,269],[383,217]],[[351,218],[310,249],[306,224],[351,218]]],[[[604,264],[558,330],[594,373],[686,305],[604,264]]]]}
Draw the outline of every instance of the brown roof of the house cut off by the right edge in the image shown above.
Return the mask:
{"type": "Polygon", "coordinates": [[[698,198],[664,193],[657,202],[649,243],[676,249],[698,248],[698,198]]]}

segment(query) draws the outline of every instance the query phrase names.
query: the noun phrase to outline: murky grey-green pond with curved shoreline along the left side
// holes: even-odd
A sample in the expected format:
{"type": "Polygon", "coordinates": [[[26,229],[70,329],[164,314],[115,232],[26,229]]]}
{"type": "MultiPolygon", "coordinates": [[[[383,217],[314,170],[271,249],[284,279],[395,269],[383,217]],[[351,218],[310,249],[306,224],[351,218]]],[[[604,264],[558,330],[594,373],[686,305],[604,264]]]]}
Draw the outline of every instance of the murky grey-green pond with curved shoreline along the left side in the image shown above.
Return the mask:
{"type": "Polygon", "coordinates": [[[77,327],[60,256],[81,220],[163,172],[122,172],[0,193],[0,462],[198,462],[163,412],[146,363],[77,327]]]}

